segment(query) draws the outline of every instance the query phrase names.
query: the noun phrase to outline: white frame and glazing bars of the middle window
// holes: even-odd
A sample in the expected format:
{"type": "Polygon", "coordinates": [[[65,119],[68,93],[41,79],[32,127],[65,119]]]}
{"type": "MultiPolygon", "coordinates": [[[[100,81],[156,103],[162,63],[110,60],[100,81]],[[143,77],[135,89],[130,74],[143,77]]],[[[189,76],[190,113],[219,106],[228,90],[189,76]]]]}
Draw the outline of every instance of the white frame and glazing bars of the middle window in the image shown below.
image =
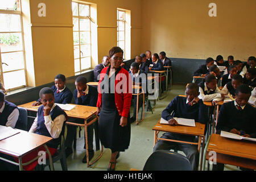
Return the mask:
{"type": "MultiPolygon", "coordinates": [[[[90,20],[90,10],[91,10],[91,7],[90,7],[90,4],[88,3],[81,3],[81,2],[76,2],[76,1],[72,1],[72,3],[77,3],[77,14],[78,15],[73,15],[73,11],[72,11],[72,21],[73,21],[73,18],[78,18],[78,24],[79,24],[79,30],[76,30],[74,31],[73,30],[73,35],[74,35],[74,32],[78,32],[79,33],[79,44],[74,44],[73,43],[73,49],[75,51],[75,46],[79,46],[79,58],[76,58],[75,59],[75,53],[74,53],[74,66],[75,66],[75,60],[78,60],[79,59],[79,71],[75,71],[75,75],[78,75],[80,74],[81,72],[84,72],[88,69],[92,69],[92,24],[91,24],[91,20],[90,20]],[[88,16],[80,16],[79,14],[79,5],[87,5],[89,6],[89,15],[88,16]],[[90,22],[90,30],[89,31],[80,31],[80,19],[88,19],[89,22],[90,22]],[[89,44],[81,44],[80,43],[80,32],[89,32],[90,33],[90,43],[89,44]],[[89,45],[90,46],[90,56],[81,56],[81,46],[86,46],[86,45],[89,45]],[[85,69],[81,69],[81,59],[84,59],[86,57],[90,57],[90,67],[89,68],[85,68],[85,69]]],[[[73,41],[74,41],[74,38],[73,38],[73,41]]]]}

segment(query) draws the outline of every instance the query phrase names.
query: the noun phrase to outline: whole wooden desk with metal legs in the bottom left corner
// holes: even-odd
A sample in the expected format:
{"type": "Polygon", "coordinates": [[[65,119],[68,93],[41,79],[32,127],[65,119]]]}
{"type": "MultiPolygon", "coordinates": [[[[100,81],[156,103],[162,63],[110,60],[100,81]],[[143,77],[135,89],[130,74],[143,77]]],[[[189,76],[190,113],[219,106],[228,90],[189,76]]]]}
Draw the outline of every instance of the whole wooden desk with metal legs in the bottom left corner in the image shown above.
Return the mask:
{"type": "Polygon", "coordinates": [[[44,146],[49,156],[50,169],[52,171],[52,156],[46,144],[53,138],[46,137],[44,135],[38,135],[35,133],[28,133],[27,131],[23,130],[19,131],[20,133],[0,141],[0,152],[6,155],[13,156],[14,158],[18,158],[19,163],[4,158],[0,159],[5,160],[6,162],[9,162],[11,164],[15,164],[16,166],[19,166],[19,170],[22,171],[23,166],[27,166],[27,164],[34,162],[36,159],[40,158],[40,156],[37,156],[35,159],[32,159],[27,163],[22,163],[22,157],[27,155],[29,152],[35,150],[36,148],[44,146]]]}

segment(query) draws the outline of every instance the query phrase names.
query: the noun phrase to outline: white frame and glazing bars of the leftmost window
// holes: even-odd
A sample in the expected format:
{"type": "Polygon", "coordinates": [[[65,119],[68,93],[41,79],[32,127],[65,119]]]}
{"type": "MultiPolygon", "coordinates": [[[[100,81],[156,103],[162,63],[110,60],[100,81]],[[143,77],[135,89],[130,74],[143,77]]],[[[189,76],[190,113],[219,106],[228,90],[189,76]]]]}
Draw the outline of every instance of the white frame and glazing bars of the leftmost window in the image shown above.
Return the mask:
{"type": "Polygon", "coordinates": [[[23,88],[27,86],[27,69],[26,69],[26,57],[25,57],[25,46],[24,46],[24,32],[23,32],[23,21],[22,21],[22,6],[21,6],[21,0],[19,0],[19,6],[20,6],[20,10],[2,10],[0,9],[0,14],[15,14],[15,15],[19,15],[20,16],[20,31],[10,31],[10,32],[0,32],[0,34],[21,34],[21,40],[22,40],[22,50],[20,51],[8,51],[8,52],[1,52],[1,48],[0,48],[0,72],[1,72],[1,78],[2,78],[2,83],[3,85],[5,85],[4,82],[4,78],[3,78],[3,73],[10,73],[10,72],[16,72],[16,71],[24,71],[24,77],[25,77],[25,85],[21,85],[21,86],[17,86],[15,88],[10,88],[10,89],[6,89],[6,92],[9,92],[11,90],[15,90],[15,89],[19,89],[19,88],[23,88]],[[15,52],[22,52],[23,53],[23,64],[24,64],[24,68],[20,68],[20,69],[14,69],[11,71],[6,71],[3,72],[3,68],[2,68],[2,54],[3,53],[15,53],[15,52]]]}

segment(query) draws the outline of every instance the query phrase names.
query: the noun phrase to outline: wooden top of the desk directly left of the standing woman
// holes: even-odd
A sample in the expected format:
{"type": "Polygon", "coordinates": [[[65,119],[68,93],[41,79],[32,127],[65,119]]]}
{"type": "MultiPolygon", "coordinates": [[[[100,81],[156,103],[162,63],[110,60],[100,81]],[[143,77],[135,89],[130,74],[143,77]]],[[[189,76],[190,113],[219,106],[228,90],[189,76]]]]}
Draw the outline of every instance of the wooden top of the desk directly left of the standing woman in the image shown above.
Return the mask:
{"type": "MultiPolygon", "coordinates": [[[[23,107],[29,111],[38,111],[38,108],[41,106],[32,106],[33,103],[36,101],[28,102],[26,104],[19,105],[18,107],[23,107]]],[[[75,104],[70,104],[75,105],[75,104]]],[[[74,109],[71,109],[69,111],[65,110],[65,113],[68,115],[68,117],[71,118],[79,118],[79,119],[87,119],[91,117],[92,115],[96,114],[97,107],[91,107],[91,106],[83,106],[83,105],[76,105],[74,109]]]]}

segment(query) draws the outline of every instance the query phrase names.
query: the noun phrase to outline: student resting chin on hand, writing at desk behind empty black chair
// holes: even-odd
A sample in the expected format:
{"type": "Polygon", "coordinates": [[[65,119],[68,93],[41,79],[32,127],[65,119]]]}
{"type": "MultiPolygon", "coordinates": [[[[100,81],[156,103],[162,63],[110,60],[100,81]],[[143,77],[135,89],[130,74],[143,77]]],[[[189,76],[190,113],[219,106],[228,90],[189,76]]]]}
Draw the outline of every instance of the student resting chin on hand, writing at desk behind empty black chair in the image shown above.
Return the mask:
{"type": "MultiPolygon", "coordinates": [[[[199,99],[199,86],[195,83],[189,84],[186,88],[186,97],[175,97],[174,100],[162,111],[162,118],[169,122],[169,125],[177,125],[174,117],[195,119],[195,122],[207,123],[208,115],[207,108],[203,101],[199,99]],[[173,113],[172,113],[173,112],[173,113]],[[172,115],[171,115],[172,113],[172,115]]],[[[206,129],[205,129],[206,131],[206,129]]],[[[174,133],[164,133],[161,138],[182,140],[186,142],[194,142],[195,137],[191,135],[182,135],[174,133]]],[[[181,150],[187,156],[193,170],[197,170],[199,166],[199,151],[197,147],[187,143],[170,142],[166,140],[158,140],[156,142],[154,151],[157,150],[181,150]]]]}

